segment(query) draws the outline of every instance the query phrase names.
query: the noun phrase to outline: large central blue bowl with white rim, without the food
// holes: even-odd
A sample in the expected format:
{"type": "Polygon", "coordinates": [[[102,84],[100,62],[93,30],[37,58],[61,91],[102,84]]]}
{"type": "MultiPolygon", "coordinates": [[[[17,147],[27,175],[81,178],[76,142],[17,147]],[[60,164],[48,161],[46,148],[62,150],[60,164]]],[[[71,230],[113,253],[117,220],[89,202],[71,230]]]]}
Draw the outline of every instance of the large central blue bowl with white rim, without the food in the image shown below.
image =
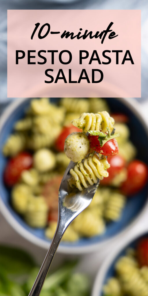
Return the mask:
{"type": "MultiPolygon", "coordinates": [[[[58,99],[52,99],[57,102],[58,99]]],[[[48,248],[50,241],[46,239],[43,229],[33,229],[28,226],[25,221],[13,210],[10,205],[10,192],[5,187],[3,182],[3,171],[7,163],[7,158],[2,154],[2,147],[12,133],[14,123],[24,116],[25,110],[29,106],[30,99],[17,99],[14,101],[1,117],[1,129],[0,129],[0,202],[1,211],[7,221],[15,228],[19,234],[28,239],[29,241],[48,248]]],[[[139,105],[135,106],[135,101],[132,103],[132,99],[107,99],[107,103],[110,106],[112,112],[122,112],[128,115],[130,118],[129,128],[131,131],[131,141],[137,147],[140,160],[143,160],[148,164],[148,135],[146,123],[138,112],[139,105]]],[[[101,236],[95,236],[92,238],[82,238],[75,243],[61,242],[58,248],[59,252],[64,253],[84,253],[91,252],[104,247],[113,237],[117,236],[119,232],[126,231],[127,226],[132,226],[132,222],[139,217],[139,214],[146,209],[148,205],[147,201],[147,188],[145,187],[139,194],[136,194],[133,198],[129,198],[126,203],[126,207],[123,210],[123,215],[118,222],[112,222],[107,225],[106,232],[101,236]]]]}

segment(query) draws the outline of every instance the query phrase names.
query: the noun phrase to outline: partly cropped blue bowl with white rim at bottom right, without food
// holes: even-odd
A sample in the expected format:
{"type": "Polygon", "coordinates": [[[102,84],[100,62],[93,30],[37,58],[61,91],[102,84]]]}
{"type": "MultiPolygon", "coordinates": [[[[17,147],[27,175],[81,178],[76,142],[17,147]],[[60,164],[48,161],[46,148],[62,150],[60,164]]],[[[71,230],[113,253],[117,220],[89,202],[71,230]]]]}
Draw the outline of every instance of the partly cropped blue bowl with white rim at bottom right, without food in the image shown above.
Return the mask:
{"type": "Polygon", "coordinates": [[[110,279],[110,277],[115,276],[115,264],[118,259],[126,254],[127,248],[135,249],[137,243],[145,237],[148,237],[148,232],[144,232],[143,234],[138,235],[138,237],[130,240],[130,242],[126,243],[124,247],[120,248],[119,252],[116,255],[107,257],[104,265],[102,265],[96,276],[92,296],[103,296],[102,287],[104,286],[104,284],[106,284],[107,280],[110,279]]]}

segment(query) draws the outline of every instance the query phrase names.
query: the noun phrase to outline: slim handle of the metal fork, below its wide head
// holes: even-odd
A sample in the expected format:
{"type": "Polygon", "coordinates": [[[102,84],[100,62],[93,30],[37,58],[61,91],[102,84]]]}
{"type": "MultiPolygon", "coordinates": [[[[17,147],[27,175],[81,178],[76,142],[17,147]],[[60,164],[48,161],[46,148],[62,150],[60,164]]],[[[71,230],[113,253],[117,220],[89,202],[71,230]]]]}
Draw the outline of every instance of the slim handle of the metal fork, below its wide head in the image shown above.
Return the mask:
{"type": "Polygon", "coordinates": [[[49,271],[49,268],[51,266],[55,252],[57,251],[57,247],[59,245],[59,242],[64,234],[64,231],[65,231],[65,227],[63,227],[62,224],[59,223],[59,221],[58,221],[57,229],[55,231],[54,237],[53,237],[52,242],[50,244],[49,250],[46,254],[44,262],[39,270],[39,273],[36,277],[36,280],[35,280],[33,287],[32,287],[28,296],[40,295],[41,289],[42,289],[44,281],[46,279],[46,275],[49,271]]]}

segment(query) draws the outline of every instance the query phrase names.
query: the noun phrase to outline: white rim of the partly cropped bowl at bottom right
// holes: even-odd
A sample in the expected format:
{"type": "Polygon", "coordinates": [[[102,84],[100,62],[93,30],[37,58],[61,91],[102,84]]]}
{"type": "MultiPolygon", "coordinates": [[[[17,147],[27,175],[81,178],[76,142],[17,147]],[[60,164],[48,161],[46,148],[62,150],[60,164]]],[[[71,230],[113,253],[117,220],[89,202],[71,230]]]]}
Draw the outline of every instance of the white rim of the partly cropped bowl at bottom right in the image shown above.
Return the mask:
{"type": "Polygon", "coordinates": [[[101,267],[99,268],[99,271],[96,274],[94,285],[92,289],[91,296],[101,296],[102,293],[102,286],[104,282],[104,277],[106,276],[106,272],[108,271],[108,268],[112,264],[112,262],[115,260],[116,257],[126,248],[129,244],[131,244],[134,240],[138,239],[142,235],[146,234],[148,232],[148,229],[144,229],[142,231],[139,231],[137,234],[133,234],[128,239],[125,239],[124,242],[120,243],[115,249],[110,253],[110,255],[105,258],[104,263],[101,264],[101,267]]]}

